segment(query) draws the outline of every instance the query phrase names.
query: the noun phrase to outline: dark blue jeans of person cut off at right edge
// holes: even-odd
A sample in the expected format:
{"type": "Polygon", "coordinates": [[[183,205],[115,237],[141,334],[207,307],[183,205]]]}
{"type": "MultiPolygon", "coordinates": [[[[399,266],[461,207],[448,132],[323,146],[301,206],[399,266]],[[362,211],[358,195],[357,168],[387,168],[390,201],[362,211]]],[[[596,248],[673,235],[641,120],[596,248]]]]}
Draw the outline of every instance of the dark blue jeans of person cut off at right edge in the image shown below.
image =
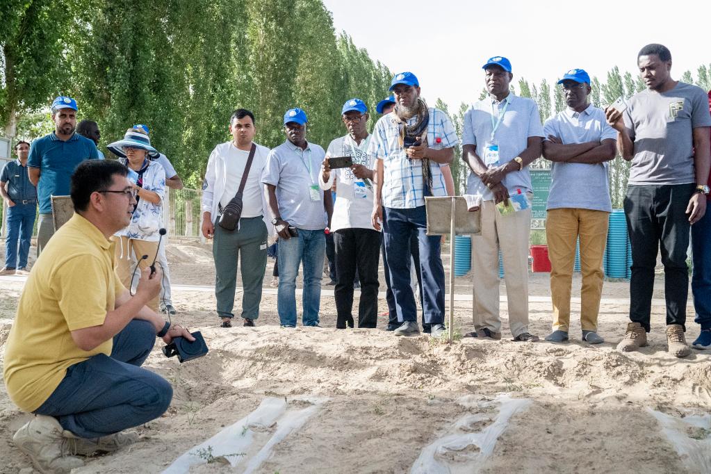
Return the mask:
{"type": "Polygon", "coordinates": [[[711,329],[711,201],[707,201],[706,214],[691,226],[691,251],[694,272],[691,292],[694,295],[694,321],[702,329],[711,329]]]}

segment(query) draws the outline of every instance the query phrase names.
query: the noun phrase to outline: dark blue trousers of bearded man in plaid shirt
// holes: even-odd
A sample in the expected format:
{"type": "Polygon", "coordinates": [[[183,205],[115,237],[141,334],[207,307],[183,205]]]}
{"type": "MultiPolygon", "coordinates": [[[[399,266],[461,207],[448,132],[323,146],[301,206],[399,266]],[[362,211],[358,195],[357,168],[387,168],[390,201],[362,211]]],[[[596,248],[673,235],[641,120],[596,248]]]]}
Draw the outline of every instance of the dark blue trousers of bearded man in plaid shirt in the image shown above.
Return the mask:
{"type": "Polygon", "coordinates": [[[417,231],[419,269],[422,274],[424,323],[444,323],[444,266],[439,255],[441,237],[427,235],[424,206],[412,209],[383,208],[385,254],[390,267],[390,286],[395,296],[397,321],[417,322],[415,295],[410,286],[410,235],[417,231]]]}

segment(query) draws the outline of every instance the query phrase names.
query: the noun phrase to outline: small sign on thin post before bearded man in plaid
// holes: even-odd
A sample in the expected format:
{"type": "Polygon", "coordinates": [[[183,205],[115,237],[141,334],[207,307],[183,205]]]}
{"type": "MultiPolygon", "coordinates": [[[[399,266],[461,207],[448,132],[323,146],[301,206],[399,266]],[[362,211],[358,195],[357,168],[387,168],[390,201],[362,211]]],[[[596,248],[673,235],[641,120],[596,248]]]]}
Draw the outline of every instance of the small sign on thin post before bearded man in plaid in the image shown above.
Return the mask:
{"type": "Polygon", "coordinates": [[[481,212],[467,210],[462,196],[425,197],[427,235],[449,234],[449,340],[454,339],[454,237],[481,235],[481,212]]]}

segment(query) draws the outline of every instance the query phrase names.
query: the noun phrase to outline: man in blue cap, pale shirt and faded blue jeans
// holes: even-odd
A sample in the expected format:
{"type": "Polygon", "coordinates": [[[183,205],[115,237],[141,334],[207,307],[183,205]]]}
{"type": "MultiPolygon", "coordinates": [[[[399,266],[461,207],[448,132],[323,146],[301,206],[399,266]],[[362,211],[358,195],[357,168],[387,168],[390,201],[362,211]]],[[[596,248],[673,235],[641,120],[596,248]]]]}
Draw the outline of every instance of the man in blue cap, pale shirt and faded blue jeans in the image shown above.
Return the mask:
{"type": "Polygon", "coordinates": [[[296,327],[296,275],[301,262],[302,320],[305,326],[319,326],[321,270],[326,251],[324,230],[333,212],[331,193],[324,193],[319,187],[319,170],[326,152],[306,141],[307,122],[303,110],[287,110],[284,114],[287,141],[269,151],[262,175],[272,225],[279,234],[277,311],[285,328],[296,327]]]}

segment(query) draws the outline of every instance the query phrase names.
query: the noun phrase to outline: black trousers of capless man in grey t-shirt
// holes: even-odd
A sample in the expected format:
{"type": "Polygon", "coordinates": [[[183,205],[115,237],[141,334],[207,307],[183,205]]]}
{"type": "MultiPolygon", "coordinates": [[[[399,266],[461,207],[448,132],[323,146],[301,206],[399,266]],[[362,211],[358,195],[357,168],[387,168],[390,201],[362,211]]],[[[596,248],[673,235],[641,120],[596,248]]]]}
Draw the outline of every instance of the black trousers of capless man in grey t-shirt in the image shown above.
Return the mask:
{"type": "Polygon", "coordinates": [[[654,267],[658,249],[664,264],[666,323],[685,328],[689,269],[689,216],[686,207],[694,184],[629,185],[624,200],[632,244],[629,318],[649,332],[654,267]]]}

